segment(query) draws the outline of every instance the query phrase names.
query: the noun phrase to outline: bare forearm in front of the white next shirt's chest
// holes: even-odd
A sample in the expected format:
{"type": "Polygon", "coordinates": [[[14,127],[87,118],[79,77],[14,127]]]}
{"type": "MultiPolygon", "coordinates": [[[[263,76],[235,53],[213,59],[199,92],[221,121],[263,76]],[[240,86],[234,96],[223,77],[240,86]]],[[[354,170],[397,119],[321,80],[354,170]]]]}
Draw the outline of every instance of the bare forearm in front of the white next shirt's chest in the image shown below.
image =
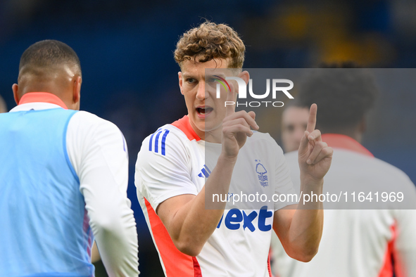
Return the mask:
{"type": "Polygon", "coordinates": [[[177,236],[174,243],[181,252],[198,255],[218,226],[226,203],[212,203],[210,200],[213,199],[213,193],[228,193],[236,160],[220,156],[202,191],[178,211],[177,219],[182,217],[183,220],[176,221],[177,236]]]}

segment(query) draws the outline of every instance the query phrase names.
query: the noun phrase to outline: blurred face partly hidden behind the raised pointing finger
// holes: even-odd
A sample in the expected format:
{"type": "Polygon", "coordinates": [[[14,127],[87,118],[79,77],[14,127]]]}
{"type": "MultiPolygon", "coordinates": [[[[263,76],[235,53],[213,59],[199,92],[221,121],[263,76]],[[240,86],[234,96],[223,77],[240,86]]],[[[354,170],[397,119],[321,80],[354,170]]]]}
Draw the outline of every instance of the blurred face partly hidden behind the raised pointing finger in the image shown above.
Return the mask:
{"type": "Polygon", "coordinates": [[[297,101],[284,105],[282,113],[282,148],[285,153],[298,150],[308,125],[309,108],[301,107],[297,101]]]}

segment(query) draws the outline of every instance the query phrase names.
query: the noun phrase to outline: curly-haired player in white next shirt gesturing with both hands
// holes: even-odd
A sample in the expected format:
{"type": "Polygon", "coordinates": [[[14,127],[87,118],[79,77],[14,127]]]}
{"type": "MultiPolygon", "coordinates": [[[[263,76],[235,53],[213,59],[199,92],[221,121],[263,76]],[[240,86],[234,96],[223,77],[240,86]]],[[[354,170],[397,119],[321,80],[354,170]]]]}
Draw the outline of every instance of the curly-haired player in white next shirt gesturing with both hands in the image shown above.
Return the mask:
{"type": "MultiPolygon", "coordinates": [[[[271,210],[225,210],[225,202],[217,210],[206,208],[206,195],[227,194],[230,183],[260,186],[253,155],[270,171],[275,193],[293,192],[282,149],[268,134],[251,131],[258,129],[254,112],[225,107],[226,99],[236,100],[237,83],[220,98],[208,88],[208,68],[234,68],[228,72],[247,84],[244,51],[227,25],[204,22],[184,33],[175,60],[188,115],[148,136],[139,152],[137,195],[166,276],[270,276],[272,226],[291,257],[308,262],[317,251],[321,202],[313,210],[280,202],[271,210]],[[206,161],[206,151],[218,160],[206,161]],[[286,205],[291,210],[282,209],[286,205]]],[[[299,155],[305,192],[322,190],[332,157],[315,130],[316,111],[313,105],[299,155]]]]}

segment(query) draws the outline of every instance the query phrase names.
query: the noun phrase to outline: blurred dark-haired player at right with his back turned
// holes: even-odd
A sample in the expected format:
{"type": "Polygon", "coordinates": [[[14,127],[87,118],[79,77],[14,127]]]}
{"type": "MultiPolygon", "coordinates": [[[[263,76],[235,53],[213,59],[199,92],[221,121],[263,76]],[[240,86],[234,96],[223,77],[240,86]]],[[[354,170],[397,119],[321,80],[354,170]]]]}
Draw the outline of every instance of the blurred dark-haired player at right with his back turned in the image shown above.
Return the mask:
{"type": "MultiPolygon", "coordinates": [[[[351,64],[326,65],[351,67],[351,64]]],[[[307,108],[317,103],[317,127],[334,148],[326,188],[343,183],[346,188],[392,187],[416,199],[412,181],[396,167],[375,158],[361,144],[365,115],[374,105],[377,86],[360,68],[324,68],[301,84],[297,101],[307,108]]],[[[286,154],[292,176],[298,174],[297,153],[286,154]]],[[[298,181],[294,179],[295,186],[298,181]]],[[[348,191],[352,192],[352,191],[348,191]]],[[[375,199],[373,199],[375,201],[375,199]]],[[[320,249],[308,264],[297,262],[274,241],[272,271],[279,277],[416,276],[415,210],[324,210],[320,249]]],[[[386,208],[387,209],[387,208],[386,208]]]]}

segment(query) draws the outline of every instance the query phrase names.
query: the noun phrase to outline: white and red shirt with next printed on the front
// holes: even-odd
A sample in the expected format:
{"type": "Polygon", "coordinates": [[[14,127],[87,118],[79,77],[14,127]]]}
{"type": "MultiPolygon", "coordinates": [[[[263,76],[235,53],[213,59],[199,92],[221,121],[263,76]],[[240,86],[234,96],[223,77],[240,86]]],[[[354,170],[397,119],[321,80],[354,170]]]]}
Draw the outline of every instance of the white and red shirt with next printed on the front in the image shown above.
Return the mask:
{"type": "MultiPolygon", "coordinates": [[[[273,214],[294,202],[260,203],[251,210],[229,203],[230,210],[225,210],[197,257],[176,249],[155,213],[168,198],[197,195],[220,151],[220,144],[198,138],[187,116],[161,127],[141,146],[135,175],[137,196],[166,276],[271,276],[268,252],[273,214]],[[260,209],[264,205],[269,208],[260,209]]],[[[250,188],[269,195],[294,193],[282,149],[268,134],[255,132],[239,152],[229,193],[250,188]]]]}

